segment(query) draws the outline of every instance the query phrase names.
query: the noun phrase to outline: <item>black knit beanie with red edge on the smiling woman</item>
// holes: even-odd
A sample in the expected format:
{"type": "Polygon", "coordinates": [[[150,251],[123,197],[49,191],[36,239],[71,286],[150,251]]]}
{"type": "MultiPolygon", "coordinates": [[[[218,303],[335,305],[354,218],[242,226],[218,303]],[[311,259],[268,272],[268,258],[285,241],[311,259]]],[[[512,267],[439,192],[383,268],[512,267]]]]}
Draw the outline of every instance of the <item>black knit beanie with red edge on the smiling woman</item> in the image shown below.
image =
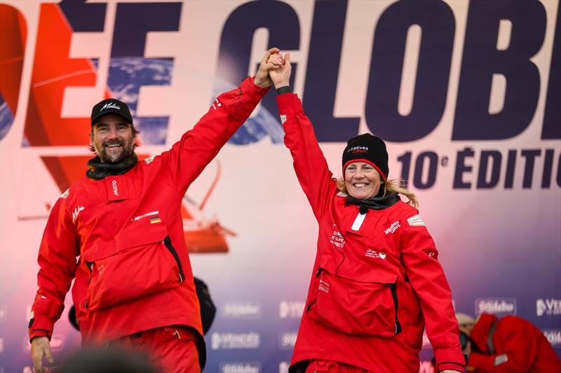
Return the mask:
{"type": "Polygon", "coordinates": [[[372,134],[360,134],[346,142],[343,151],[343,175],[351,162],[367,162],[380,173],[381,178],[388,178],[388,151],[384,140],[372,134]]]}

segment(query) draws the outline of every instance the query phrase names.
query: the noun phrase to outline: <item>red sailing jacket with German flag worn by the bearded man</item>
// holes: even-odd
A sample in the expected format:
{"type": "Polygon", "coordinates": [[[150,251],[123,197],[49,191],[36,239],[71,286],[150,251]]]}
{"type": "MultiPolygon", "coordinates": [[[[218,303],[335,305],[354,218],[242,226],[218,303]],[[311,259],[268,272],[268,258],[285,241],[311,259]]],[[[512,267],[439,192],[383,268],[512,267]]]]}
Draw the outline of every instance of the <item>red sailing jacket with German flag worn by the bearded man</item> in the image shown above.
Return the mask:
{"type": "Polygon", "coordinates": [[[245,79],[221,94],[170,150],[120,176],[84,176],[58,199],[39,249],[30,339],[50,337],[74,277],[86,343],[165,325],[188,325],[203,334],[182,197],[266,92],[245,79]]]}

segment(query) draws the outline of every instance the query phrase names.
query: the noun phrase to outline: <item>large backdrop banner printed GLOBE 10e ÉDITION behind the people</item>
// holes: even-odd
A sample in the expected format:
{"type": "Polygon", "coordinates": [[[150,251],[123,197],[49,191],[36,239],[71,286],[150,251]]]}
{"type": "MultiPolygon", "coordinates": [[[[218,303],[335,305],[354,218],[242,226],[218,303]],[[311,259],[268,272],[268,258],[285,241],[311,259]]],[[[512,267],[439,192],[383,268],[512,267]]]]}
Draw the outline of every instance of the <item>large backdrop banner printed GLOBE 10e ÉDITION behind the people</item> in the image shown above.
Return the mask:
{"type": "MultiPolygon", "coordinates": [[[[560,19],[557,0],[2,0],[0,372],[32,372],[39,242],[92,157],[93,104],[129,104],[137,153],[157,155],[270,46],[291,53],[335,176],[346,139],[386,140],[389,176],[419,197],[455,309],[527,318],[561,355],[560,19]]],[[[287,372],[317,225],[275,92],[182,213],[194,274],[217,304],[205,371],[287,372]]],[[[80,344],[71,298],[55,363],[80,344]]],[[[426,340],[422,372],[431,358],[426,340]]]]}

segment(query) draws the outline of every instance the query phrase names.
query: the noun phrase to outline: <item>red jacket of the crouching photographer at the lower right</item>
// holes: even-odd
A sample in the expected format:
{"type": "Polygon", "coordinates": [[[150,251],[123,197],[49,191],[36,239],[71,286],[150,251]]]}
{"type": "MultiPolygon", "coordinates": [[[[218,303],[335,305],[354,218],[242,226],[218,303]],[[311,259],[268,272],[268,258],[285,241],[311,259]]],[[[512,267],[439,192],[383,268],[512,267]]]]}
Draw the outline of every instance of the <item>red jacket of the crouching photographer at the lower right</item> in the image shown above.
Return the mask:
{"type": "Polygon", "coordinates": [[[561,372],[561,360],[543,333],[518,316],[504,316],[499,320],[494,315],[482,314],[470,338],[482,353],[471,353],[468,372],[561,372]],[[492,334],[490,344],[489,333],[492,334]]]}

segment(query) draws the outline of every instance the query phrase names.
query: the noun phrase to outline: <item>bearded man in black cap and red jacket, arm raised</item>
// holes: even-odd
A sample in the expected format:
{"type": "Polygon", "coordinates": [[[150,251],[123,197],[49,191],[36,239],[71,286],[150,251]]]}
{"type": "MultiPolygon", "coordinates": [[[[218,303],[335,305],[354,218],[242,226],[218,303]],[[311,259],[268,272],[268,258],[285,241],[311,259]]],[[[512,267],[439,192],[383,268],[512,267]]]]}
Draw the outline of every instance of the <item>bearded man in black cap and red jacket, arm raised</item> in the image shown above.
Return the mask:
{"type": "Polygon", "coordinates": [[[164,372],[202,370],[203,330],[181,201],[268,92],[269,70],[281,63],[276,52],[266,52],[255,77],[217,97],[170,150],[142,162],[128,106],[105,99],[93,107],[96,157],[53,206],[39,249],[29,321],[37,372],[43,357],[53,361],[49,341],[73,279],[83,344],[140,350],[164,372]]]}

